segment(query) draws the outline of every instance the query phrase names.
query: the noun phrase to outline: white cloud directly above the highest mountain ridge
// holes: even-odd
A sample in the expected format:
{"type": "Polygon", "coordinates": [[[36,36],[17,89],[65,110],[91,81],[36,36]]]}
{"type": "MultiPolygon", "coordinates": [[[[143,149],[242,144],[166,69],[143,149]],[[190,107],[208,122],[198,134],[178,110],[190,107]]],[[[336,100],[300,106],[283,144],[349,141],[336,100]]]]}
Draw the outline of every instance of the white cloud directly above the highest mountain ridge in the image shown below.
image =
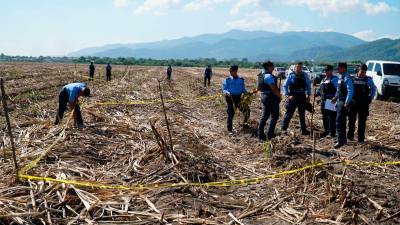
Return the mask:
{"type": "Polygon", "coordinates": [[[248,14],[246,18],[228,22],[234,29],[268,29],[270,31],[287,31],[291,24],[280,18],[272,16],[268,11],[257,11],[248,14]]]}

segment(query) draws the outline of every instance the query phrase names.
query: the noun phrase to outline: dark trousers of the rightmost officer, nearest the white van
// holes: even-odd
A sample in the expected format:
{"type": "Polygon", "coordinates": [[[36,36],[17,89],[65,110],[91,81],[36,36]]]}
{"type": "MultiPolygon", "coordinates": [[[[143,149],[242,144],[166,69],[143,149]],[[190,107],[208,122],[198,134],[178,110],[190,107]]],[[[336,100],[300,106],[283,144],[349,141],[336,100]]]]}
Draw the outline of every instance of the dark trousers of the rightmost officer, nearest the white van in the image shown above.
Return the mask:
{"type": "Polygon", "coordinates": [[[354,131],[356,130],[356,120],[358,116],[358,141],[363,142],[365,140],[365,126],[367,118],[369,116],[369,104],[368,102],[360,102],[353,104],[349,109],[349,131],[347,137],[354,139],[354,131]]]}

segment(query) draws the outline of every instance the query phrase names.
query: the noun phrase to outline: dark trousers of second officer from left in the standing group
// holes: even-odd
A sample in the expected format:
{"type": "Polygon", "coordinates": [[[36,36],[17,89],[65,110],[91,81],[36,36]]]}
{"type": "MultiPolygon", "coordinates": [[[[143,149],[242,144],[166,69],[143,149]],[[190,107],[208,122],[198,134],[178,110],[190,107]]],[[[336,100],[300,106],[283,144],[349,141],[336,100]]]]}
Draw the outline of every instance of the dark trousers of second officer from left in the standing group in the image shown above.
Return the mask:
{"type": "Polygon", "coordinates": [[[260,116],[260,123],[258,124],[258,137],[265,138],[264,127],[271,116],[267,134],[268,139],[271,139],[275,135],[275,127],[279,118],[279,100],[273,94],[261,94],[261,103],[263,109],[260,116]]]}

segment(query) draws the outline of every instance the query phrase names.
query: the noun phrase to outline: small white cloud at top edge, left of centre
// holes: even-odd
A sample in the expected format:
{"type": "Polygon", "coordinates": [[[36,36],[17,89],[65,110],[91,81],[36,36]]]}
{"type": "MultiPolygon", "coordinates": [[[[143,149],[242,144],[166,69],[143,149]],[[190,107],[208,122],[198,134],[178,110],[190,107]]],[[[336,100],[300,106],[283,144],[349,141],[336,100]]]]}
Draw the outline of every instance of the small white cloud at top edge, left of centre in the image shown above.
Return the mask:
{"type": "Polygon", "coordinates": [[[164,10],[178,6],[180,0],[145,0],[136,10],[136,14],[150,13],[157,16],[164,15],[164,10]]]}

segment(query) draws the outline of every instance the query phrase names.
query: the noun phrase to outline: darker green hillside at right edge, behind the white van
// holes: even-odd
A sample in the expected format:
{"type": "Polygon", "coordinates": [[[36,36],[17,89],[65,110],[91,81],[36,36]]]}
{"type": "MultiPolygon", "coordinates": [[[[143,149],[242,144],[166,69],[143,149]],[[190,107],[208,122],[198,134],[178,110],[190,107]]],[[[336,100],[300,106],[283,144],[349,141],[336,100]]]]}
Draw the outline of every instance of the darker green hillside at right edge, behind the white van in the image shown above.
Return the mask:
{"type": "Polygon", "coordinates": [[[400,39],[379,39],[343,51],[321,57],[324,60],[361,60],[370,59],[400,61],[400,39]]]}

